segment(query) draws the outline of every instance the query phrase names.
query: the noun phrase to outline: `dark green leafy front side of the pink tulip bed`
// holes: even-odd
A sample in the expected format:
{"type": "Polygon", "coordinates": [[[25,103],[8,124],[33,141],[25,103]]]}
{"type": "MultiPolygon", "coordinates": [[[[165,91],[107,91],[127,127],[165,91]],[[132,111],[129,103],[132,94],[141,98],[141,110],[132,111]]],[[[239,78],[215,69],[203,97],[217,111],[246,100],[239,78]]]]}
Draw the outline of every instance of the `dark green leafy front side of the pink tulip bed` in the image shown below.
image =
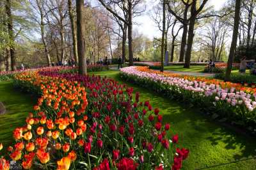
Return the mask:
{"type": "MultiPolygon", "coordinates": [[[[124,72],[120,72],[119,76],[124,81],[129,81],[139,85],[140,87],[154,90],[155,92],[163,94],[170,99],[175,99],[175,101],[188,103],[189,107],[194,106],[196,108],[200,108],[202,112],[207,113],[207,115],[210,114],[214,120],[218,120],[221,124],[228,124],[227,126],[231,125],[237,129],[244,129],[244,132],[256,136],[256,116],[254,120],[248,124],[239,122],[243,117],[237,115],[234,112],[234,108],[225,101],[223,103],[216,102],[216,99],[213,96],[200,97],[199,93],[177,88],[175,85],[168,85],[168,83],[160,81],[152,81],[149,78],[141,78],[124,72]]],[[[255,114],[255,110],[253,113],[255,114]]],[[[244,121],[246,122],[246,120],[244,121]]]]}

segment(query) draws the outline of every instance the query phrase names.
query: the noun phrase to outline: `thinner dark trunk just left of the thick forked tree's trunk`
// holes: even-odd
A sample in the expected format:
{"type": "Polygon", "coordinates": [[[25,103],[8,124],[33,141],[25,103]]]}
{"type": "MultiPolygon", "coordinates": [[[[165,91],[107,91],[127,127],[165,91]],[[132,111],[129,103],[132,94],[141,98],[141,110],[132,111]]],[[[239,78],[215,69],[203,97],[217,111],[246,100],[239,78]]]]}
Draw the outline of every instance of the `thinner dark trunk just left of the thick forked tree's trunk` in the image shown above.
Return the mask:
{"type": "Polygon", "coordinates": [[[184,11],[184,24],[183,24],[183,33],[181,38],[181,46],[180,46],[180,59],[179,62],[184,61],[184,54],[185,54],[185,48],[186,48],[186,42],[187,42],[187,33],[188,33],[188,6],[186,6],[184,11]]]}

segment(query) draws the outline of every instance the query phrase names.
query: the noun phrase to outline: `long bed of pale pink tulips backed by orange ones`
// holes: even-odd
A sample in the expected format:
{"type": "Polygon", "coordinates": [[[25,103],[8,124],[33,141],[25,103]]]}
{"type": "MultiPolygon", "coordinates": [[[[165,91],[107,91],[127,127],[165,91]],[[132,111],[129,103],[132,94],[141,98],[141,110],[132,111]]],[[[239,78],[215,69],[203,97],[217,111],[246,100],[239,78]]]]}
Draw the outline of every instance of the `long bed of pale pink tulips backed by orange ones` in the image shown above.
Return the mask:
{"type": "Polygon", "coordinates": [[[215,113],[214,117],[223,121],[256,131],[256,94],[253,88],[160,73],[147,67],[125,67],[121,69],[120,76],[126,81],[156,90],[172,99],[198,106],[206,113],[215,113]]]}

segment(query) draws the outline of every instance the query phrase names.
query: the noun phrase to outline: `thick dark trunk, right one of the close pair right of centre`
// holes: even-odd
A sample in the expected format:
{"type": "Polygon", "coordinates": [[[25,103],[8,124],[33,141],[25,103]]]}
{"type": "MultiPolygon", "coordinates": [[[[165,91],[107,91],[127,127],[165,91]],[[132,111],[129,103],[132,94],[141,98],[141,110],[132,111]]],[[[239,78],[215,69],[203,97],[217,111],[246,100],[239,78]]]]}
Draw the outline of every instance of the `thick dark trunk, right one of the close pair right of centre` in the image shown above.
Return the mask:
{"type": "Polygon", "coordinates": [[[193,4],[191,5],[191,19],[189,22],[189,30],[188,30],[188,45],[186,49],[186,55],[185,55],[185,64],[184,68],[189,68],[190,66],[190,59],[191,59],[191,51],[192,51],[192,45],[193,45],[193,38],[194,38],[194,27],[195,27],[195,21],[196,21],[196,1],[193,1],[193,4]]]}

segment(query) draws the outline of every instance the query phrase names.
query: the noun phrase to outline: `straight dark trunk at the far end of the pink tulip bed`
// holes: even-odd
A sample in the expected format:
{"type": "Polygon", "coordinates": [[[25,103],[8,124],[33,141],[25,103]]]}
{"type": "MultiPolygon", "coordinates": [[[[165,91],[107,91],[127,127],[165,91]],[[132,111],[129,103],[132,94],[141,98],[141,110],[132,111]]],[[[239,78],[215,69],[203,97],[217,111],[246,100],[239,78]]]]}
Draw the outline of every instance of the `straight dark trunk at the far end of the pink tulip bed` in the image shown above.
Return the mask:
{"type": "Polygon", "coordinates": [[[128,0],[128,48],[129,48],[129,66],[133,66],[132,50],[132,0],[128,0]]]}

